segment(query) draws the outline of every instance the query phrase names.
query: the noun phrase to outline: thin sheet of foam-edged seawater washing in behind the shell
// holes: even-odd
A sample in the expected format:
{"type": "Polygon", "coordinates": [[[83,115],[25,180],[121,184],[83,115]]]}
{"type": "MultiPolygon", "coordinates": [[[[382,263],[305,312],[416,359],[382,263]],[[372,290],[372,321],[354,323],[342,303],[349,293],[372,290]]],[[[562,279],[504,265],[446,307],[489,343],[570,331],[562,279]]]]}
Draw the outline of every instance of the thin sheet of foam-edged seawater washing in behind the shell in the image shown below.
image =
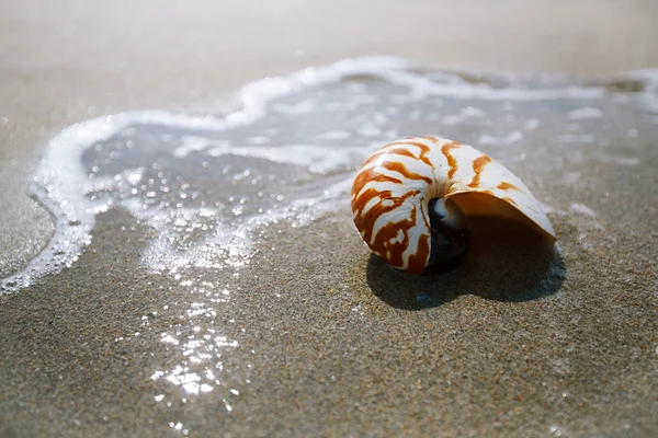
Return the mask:
{"type": "Polygon", "coordinates": [[[361,58],[252,83],[229,114],[126,113],[73,125],[52,140],[34,177],[57,218],[55,237],[0,290],[70,266],[110,208],[152,228],[143,254],[152,272],[239,268],[270,223],[347,210],[354,170],[405,136],[458,139],[512,168],[532,154],[519,166],[532,187],[576,184],[582,165],[632,168],[632,141],[615,140],[658,123],[657,77],[487,78],[361,58]],[[591,145],[598,153],[583,157],[591,145]]]}

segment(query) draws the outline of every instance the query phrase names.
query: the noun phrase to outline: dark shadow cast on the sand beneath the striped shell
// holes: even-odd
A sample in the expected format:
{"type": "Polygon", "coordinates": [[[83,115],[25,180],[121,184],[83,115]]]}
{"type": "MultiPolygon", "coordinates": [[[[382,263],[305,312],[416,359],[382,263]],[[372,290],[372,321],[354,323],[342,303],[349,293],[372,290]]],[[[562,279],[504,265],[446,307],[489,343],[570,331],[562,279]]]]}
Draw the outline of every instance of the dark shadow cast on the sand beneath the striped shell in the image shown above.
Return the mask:
{"type": "Polygon", "coordinates": [[[469,219],[472,247],[456,269],[435,276],[400,274],[371,254],[367,284],[382,301],[398,309],[441,306],[461,295],[506,302],[555,293],[566,266],[553,242],[538,231],[497,218],[469,219]]]}

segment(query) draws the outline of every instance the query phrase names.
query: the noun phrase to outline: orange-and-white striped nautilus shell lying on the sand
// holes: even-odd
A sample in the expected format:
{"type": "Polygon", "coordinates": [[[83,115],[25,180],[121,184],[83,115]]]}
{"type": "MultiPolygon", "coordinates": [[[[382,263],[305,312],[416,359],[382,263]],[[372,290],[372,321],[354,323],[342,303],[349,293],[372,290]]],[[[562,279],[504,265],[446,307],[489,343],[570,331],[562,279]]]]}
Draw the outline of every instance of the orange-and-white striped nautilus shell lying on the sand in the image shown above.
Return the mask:
{"type": "Polygon", "coordinates": [[[467,218],[524,221],[551,240],[542,205],[512,172],[456,141],[412,137],[373,153],[352,185],[354,224],[370,249],[408,274],[450,270],[470,243],[467,218]]]}

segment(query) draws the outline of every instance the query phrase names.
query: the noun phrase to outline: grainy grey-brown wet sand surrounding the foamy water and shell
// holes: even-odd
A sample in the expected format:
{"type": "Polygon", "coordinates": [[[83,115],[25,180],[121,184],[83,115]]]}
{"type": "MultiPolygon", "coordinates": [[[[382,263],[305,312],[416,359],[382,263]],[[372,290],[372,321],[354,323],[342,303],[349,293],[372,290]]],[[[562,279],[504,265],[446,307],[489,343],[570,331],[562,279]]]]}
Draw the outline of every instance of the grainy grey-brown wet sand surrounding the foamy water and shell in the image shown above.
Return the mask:
{"type": "MultiPolygon", "coordinates": [[[[67,4],[0,4],[0,274],[23,266],[54,229],[29,195],[39,151],[90,116],[215,110],[253,79],[371,50],[531,72],[658,64],[651,2],[546,2],[533,11],[512,1],[208,2],[159,7],[157,18],[128,2],[67,4]],[[284,33],[291,14],[298,26],[284,33]],[[389,32],[394,19],[413,24],[389,32]]],[[[148,231],[111,210],[71,268],[0,301],[0,435],[651,436],[655,138],[632,140],[632,170],[592,166],[582,187],[544,189],[556,205],[591,206],[603,224],[595,231],[587,214],[552,216],[563,249],[553,270],[541,247],[526,253],[504,227],[483,231],[483,249],[461,270],[429,280],[394,276],[370,257],[348,215],[294,234],[282,227],[272,241],[280,250],[263,250],[239,279],[216,278],[234,293],[226,314],[235,321],[206,315],[204,324],[212,320],[240,347],[207,396],[145,374],[154,357],[180,358],[135,335],[144,318],[154,331],[175,327],[194,298],[171,278],[135,269],[148,231]],[[117,232],[120,223],[128,227],[117,232]],[[488,252],[501,246],[502,255],[488,252]]]]}

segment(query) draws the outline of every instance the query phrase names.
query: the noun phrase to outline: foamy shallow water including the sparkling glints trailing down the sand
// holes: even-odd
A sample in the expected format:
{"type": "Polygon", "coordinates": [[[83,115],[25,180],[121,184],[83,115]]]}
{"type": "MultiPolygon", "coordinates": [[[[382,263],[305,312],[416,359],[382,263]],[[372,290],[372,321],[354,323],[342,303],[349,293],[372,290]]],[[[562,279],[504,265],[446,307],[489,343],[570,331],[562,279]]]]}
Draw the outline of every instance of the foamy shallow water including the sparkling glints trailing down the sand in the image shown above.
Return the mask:
{"type": "MultiPolygon", "coordinates": [[[[411,135],[469,143],[515,172],[554,222],[578,217],[578,245],[594,252],[591,235],[605,228],[599,212],[577,196],[555,194],[588,187],[604,198],[610,191],[592,182],[592,169],[633,172],[642,160],[638,139],[658,135],[657,84],[656,71],[487,76],[362,58],[250,84],[228,114],[140,112],[88,120],[44,151],[34,194],[55,217],[56,232],[0,290],[20,293],[47,283],[92,245],[100,215],[126,212],[116,232],[139,241],[134,269],[166,276],[190,299],[144,314],[144,333],[115,342],[149,333],[164,345],[164,354],[147,351],[154,358],[144,370],[161,383],[151,394],[156,402],[212,393],[230,412],[251,379],[249,351],[239,353],[235,370],[227,365],[249,327],[235,300],[256,276],[269,277],[249,272],[247,281],[246,268],[259,252],[274,251],[271,241],[282,230],[294,240],[294,229],[320,219],[349,222],[351,180],[374,149],[411,135]],[[151,326],[164,315],[175,323],[151,326]]],[[[321,244],[309,257],[314,251],[321,244]]],[[[285,246],[276,254],[288,256],[285,246]]],[[[277,286],[271,289],[276,296],[277,286]]],[[[354,309],[361,313],[358,303],[354,309]]],[[[188,430],[184,418],[170,426],[188,430]]]]}

